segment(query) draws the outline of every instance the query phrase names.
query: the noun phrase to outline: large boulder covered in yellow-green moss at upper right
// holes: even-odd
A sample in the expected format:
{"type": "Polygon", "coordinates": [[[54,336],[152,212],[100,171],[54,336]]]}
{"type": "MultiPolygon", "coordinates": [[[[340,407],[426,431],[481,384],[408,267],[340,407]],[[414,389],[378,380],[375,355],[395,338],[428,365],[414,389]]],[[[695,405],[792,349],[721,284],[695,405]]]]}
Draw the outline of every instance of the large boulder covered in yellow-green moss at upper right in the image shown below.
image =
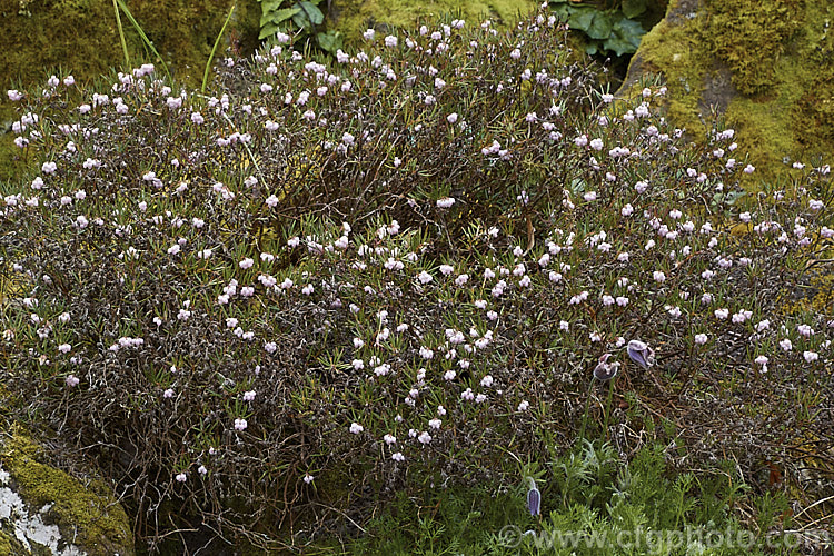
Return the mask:
{"type": "Polygon", "coordinates": [[[713,115],[737,131],[756,179],[834,152],[834,4],[828,0],[673,0],[632,60],[669,85],[676,126],[704,139],[713,115]]]}

